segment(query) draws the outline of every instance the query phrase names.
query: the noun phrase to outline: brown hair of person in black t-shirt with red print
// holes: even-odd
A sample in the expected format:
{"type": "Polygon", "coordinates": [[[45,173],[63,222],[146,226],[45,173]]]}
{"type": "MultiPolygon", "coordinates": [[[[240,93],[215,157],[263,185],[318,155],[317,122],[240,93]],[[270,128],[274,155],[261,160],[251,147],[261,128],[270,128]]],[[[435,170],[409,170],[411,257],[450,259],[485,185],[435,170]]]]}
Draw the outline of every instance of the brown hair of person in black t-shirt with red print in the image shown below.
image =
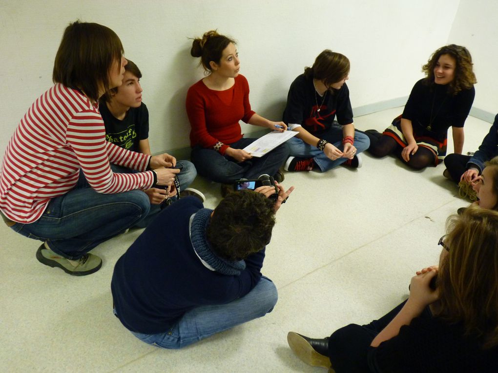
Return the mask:
{"type": "Polygon", "coordinates": [[[330,49],[325,49],[317,56],[312,67],[304,69],[304,76],[307,79],[321,80],[328,87],[347,77],[349,71],[348,57],[341,53],[332,52],[330,49]]]}

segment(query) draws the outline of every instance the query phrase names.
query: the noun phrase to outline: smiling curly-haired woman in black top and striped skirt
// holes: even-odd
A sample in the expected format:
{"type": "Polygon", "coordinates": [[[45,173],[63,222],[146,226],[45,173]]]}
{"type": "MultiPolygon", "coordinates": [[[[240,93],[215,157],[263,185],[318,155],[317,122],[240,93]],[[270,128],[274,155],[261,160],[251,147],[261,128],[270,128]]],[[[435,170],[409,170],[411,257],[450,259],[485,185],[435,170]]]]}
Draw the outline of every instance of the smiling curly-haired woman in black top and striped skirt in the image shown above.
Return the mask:
{"type": "Polygon", "coordinates": [[[395,154],[415,170],[437,166],[446,155],[452,127],[454,151],[462,154],[464,124],[474,102],[476,76],[467,48],[439,48],[422,67],[426,78],[413,86],[403,113],[382,134],[370,129],[369,152],[374,157],[395,154]]]}

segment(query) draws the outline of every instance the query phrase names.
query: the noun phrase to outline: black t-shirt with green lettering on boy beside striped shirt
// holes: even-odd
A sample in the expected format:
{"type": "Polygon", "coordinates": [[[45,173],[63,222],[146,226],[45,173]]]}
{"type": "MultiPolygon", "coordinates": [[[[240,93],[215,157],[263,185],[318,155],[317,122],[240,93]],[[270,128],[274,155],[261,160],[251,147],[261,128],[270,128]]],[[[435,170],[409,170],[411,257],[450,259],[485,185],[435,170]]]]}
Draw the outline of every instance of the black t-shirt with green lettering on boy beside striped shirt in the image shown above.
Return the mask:
{"type": "Polygon", "coordinates": [[[105,102],[99,110],[106,126],[106,140],[124,149],[139,152],[140,140],[149,137],[149,112],[142,103],[138,107],[130,107],[123,120],[116,118],[105,102]]]}

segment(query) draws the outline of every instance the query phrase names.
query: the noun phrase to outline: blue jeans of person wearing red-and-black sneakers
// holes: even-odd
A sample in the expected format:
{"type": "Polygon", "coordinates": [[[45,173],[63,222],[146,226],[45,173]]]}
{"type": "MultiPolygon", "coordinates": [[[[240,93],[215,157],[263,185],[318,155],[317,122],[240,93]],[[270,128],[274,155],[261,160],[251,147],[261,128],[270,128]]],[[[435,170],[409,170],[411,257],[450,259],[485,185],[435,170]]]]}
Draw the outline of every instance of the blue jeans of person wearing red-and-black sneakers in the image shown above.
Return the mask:
{"type": "MultiPolygon", "coordinates": [[[[330,130],[321,135],[320,138],[327,140],[341,151],[344,149],[342,145],[343,132],[342,127],[340,126],[332,126],[330,130]]],[[[348,160],[347,158],[338,158],[333,161],[316,146],[306,144],[303,140],[298,139],[295,136],[287,141],[287,145],[291,156],[299,158],[313,158],[313,161],[315,161],[322,172],[329,171],[348,160]]],[[[367,150],[369,146],[370,140],[368,136],[361,132],[355,131],[356,153],[359,154],[367,150]]]]}

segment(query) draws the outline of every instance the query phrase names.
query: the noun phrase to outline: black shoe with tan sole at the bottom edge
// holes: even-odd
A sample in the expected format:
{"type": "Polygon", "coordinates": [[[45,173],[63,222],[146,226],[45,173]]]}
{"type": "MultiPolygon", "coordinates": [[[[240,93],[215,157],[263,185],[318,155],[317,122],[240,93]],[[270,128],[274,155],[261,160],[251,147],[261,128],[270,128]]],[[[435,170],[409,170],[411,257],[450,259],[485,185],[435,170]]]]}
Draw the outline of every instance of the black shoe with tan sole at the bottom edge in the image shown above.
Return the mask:
{"type": "Polygon", "coordinates": [[[313,367],[330,368],[329,338],[314,339],[289,332],[287,343],[292,352],[304,363],[313,367]]]}

